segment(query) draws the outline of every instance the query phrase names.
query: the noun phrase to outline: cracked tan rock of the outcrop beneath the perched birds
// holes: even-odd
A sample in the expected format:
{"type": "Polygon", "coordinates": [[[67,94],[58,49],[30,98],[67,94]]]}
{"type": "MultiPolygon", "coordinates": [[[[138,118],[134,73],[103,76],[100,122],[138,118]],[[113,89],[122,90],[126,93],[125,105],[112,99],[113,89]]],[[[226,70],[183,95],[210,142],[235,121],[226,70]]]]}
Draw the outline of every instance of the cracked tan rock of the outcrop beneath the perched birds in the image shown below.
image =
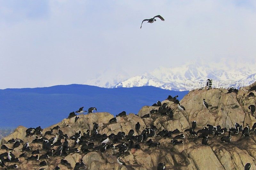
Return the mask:
{"type": "MultiPolygon", "coordinates": [[[[251,114],[248,106],[255,105],[256,97],[247,97],[249,92],[254,92],[252,89],[256,86],[253,85],[240,89],[238,94],[227,93],[226,89],[209,89],[209,90],[192,90],[181,101],[186,110],[180,111],[177,108],[177,104],[164,100],[163,103],[167,103],[173,110],[173,118],[169,116],[161,116],[159,114],[151,114],[150,118],[141,118],[140,116],[146,115],[152,109],[158,109],[158,107],[144,106],[140,109],[138,115],[129,114],[126,116],[116,117],[117,121],[110,123],[109,120],[114,116],[110,113],[90,113],[87,115],[78,115],[79,119],[75,122],[75,117],[70,119],[64,119],[60,123],[45,128],[42,133],[50,130],[56,125],[60,126],[63,134],[67,134],[69,137],[76,132],[81,131],[82,134],[87,130],[93,129],[93,122],[99,124],[98,132],[100,134],[110,135],[118,132],[128,132],[133,129],[134,136],[141,134],[141,132],[152,125],[156,126],[156,133],[166,129],[173,131],[179,129],[181,133],[185,134],[185,139],[182,139],[184,144],[173,146],[172,138],[154,136],[150,137],[154,142],[160,142],[159,147],[148,147],[145,142],[141,142],[140,149],[130,148],[128,152],[119,155],[118,149],[107,149],[105,152],[99,150],[90,150],[89,153],[70,153],[68,155],[51,156],[49,159],[42,159],[40,161],[27,161],[21,157],[17,163],[20,169],[39,169],[39,162],[45,160],[47,166],[45,169],[54,169],[55,166],[59,166],[61,169],[74,169],[76,162],[81,159],[87,169],[156,169],[158,163],[163,162],[166,169],[243,169],[246,163],[251,163],[252,168],[256,169],[256,134],[253,132],[249,139],[241,138],[241,133],[238,135],[232,135],[231,142],[221,143],[220,137],[228,135],[226,132],[220,137],[214,137],[212,134],[209,136],[208,145],[202,144],[202,138],[191,137],[188,132],[184,132],[191,126],[192,121],[196,120],[196,131],[205,127],[207,124],[221,125],[227,129],[234,126],[234,123],[238,122],[241,125],[248,123],[252,127],[256,122],[255,115],[251,114]],[[209,104],[209,108],[203,107],[203,99],[209,104]],[[140,123],[140,129],[135,130],[135,124],[140,123]],[[68,127],[69,125],[70,127],[68,127]],[[126,163],[126,166],[121,166],[117,163],[117,157],[126,163]],[[61,165],[60,160],[64,159],[70,163],[70,167],[61,165]]],[[[256,93],[255,93],[256,94],[256,93]]],[[[25,130],[27,128],[19,126],[14,133],[2,139],[1,143],[5,144],[8,148],[12,148],[13,144],[6,144],[9,139],[20,138],[24,142],[30,143],[31,150],[42,150],[42,144],[32,144],[32,140],[35,136],[25,137],[25,130]]],[[[57,130],[53,130],[53,135],[46,135],[48,139],[54,137],[57,130]]],[[[172,136],[173,137],[173,136],[172,136]]],[[[148,138],[148,139],[150,139],[148,138]]],[[[63,143],[63,139],[61,140],[63,143]]],[[[112,141],[110,141],[112,142],[112,141]]],[[[115,143],[127,142],[124,138],[115,143]]],[[[74,141],[68,139],[70,146],[74,146],[74,141]]],[[[134,143],[137,143],[134,141],[134,143]]],[[[94,146],[98,146],[100,141],[94,141],[94,146]]],[[[80,150],[81,146],[76,146],[80,150]]],[[[57,146],[53,146],[53,149],[57,149],[57,146]]],[[[13,150],[13,154],[19,157],[22,145],[13,150]]],[[[6,152],[4,149],[0,149],[0,154],[6,152]]],[[[31,156],[31,152],[25,152],[28,156],[31,156]]],[[[11,163],[6,162],[6,165],[11,163]]]]}

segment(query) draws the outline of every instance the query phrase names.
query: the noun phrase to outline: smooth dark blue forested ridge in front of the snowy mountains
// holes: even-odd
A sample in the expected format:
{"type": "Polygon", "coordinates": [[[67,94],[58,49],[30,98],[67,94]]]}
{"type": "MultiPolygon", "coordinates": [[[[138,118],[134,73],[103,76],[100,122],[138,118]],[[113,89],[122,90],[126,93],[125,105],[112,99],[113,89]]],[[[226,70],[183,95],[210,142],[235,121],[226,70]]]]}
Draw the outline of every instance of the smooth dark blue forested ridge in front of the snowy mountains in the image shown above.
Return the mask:
{"type": "Polygon", "coordinates": [[[101,88],[90,85],[56,85],[42,88],[0,90],[0,127],[47,127],[80,107],[117,115],[135,113],[142,106],[164,100],[168,95],[182,99],[188,91],[175,92],[153,86],[101,88]]]}

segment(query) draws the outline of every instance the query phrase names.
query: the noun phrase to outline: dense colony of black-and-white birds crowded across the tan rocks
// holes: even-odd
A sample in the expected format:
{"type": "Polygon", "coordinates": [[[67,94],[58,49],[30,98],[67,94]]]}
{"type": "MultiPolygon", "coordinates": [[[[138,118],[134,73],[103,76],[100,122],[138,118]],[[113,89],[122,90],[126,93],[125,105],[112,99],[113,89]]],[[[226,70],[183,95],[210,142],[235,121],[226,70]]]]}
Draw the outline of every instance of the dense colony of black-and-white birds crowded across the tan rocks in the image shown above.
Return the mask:
{"type": "MultiPolygon", "coordinates": [[[[211,88],[197,89],[194,93],[203,91],[211,93],[213,90],[214,89],[211,88]]],[[[254,91],[251,91],[245,98],[254,98],[254,91]]],[[[193,92],[190,92],[190,94],[193,94],[193,92]]],[[[188,94],[188,97],[190,94],[188,94]]],[[[236,89],[229,89],[226,94],[236,95],[237,91],[236,89]]],[[[236,146],[237,143],[232,142],[233,137],[236,138],[236,141],[242,141],[244,143],[252,137],[255,139],[256,123],[253,123],[252,127],[250,127],[248,123],[242,125],[240,122],[235,122],[230,128],[216,124],[206,124],[204,127],[200,125],[199,128],[198,122],[190,118],[191,123],[186,129],[168,129],[167,127],[177,120],[176,115],[186,115],[186,105],[181,105],[177,98],[178,96],[172,97],[169,95],[163,102],[157,101],[152,106],[147,106],[148,111],[144,112],[143,115],[130,114],[133,115],[133,117],[130,118],[130,115],[127,115],[126,112],[123,111],[115,117],[111,115],[112,118],[108,117],[104,118],[102,121],[88,122],[87,129],[84,128],[85,125],[80,119],[84,118],[83,116],[93,117],[99,113],[96,113],[96,107],[90,107],[87,111],[84,111],[84,107],[81,107],[76,112],[71,112],[68,118],[64,119],[65,123],[54,125],[52,128],[48,128],[48,130],[44,130],[40,126],[28,128],[25,130],[26,136],[23,139],[12,138],[8,141],[4,141],[5,143],[3,143],[2,140],[0,166],[2,169],[22,169],[20,167],[22,162],[26,161],[29,163],[30,161],[34,161],[33,165],[36,165],[35,169],[39,170],[49,169],[49,167],[55,170],[90,169],[89,165],[84,162],[84,158],[90,153],[97,152],[100,154],[106,153],[108,157],[114,157],[115,162],[111,163],[118,164],[118,169],[136,169],[134,165],[130,165],[130,161],[125,160],[130,154],[140,150],[153,154],[156,150],[162,149],[167,153],[173,153],[173,148],[184,149],[186,145],[191,143],[194,143],[194,147],[214,144],[225,148],[236,146]],[[88,114],[83,115],[85,112],[88,112],[88,114]],[[127,119],[127,117],[129,117],[129,119],[127,119]],[[126,129],[126,132],[118,131],[118,129],[113,128],[114,126],[111,126],[121,120],[132,122],[133,120],[137,120],[136,118],[143,120],[143,122],[134,122],[131,128],[126,129]],[[165,124],[167,122],[165,126],[166,129],[162,125],[159,126],[159,124],[162,123],[161,120],[165,120],[165,124]],[[69,122],[69,124],[67,122],[69,122]],[[75,128],[75,126],[76,131],[74,131],[74,134],[66,130],[75,128]],[[77,127],[81,129],[77,129],[77,127]],[[109,131],[103,133],[106,127],[110,127],[109,131]],[[64,131],[69,133],[64,133],[64,131]],[[102,133],[99,133],[100,131],[102,133]],[[19,150],[17,148],[19,148],[19,150]],[[16,154],[13,154],[13,152],[16,154]],[[65,158],[67,158],[68,155],[74,154],[81,155],[81,157],[77,157],[78,160],[73,159],[73,161],[75,160],[75,164],[71,165],[69,159],[65,158]],[[60,159],[60,161],[49,161],[54,159],[60,159]]],[[[186,96],[184,98],[186,98],[186,96]]],[[[199,103],[201,103],[200,112],[210,113],[210,109],[213,109],[211,102],[211,100],[206,101],[204,98],[199,101],[199,103]]],[[[181,103],[183,104],[185,102],[181,103]]],[[[249,108],[251,111],[251,113],[246,114],[250,114],[250,116],[254,115],[255,105],[250,104],[244,107],[249,108]]],[[[87,119],[89,118],[87,117],[87,119]]],[[[161,161],[163,159],[156,160],[158,160],[155,163],[156,166],[150,169],[175,169],[176,163],[173,163],[174,166],[170,167],[170,162],[161,161]]],[[[205,161],[207,162],[207,158],[205,161]]],[[[176,157],[175,162],[179,162],[176,157]]],[[[198,169],[202,169],[197,165],[196,161],[195,163],[198,169]]],[[[244,163],[243,168],[249,170],[252,163],[255,165],[254,162],[244,163]]],[[[177,166],[176,168],[179,169],[181,166],[177,166]]]]}

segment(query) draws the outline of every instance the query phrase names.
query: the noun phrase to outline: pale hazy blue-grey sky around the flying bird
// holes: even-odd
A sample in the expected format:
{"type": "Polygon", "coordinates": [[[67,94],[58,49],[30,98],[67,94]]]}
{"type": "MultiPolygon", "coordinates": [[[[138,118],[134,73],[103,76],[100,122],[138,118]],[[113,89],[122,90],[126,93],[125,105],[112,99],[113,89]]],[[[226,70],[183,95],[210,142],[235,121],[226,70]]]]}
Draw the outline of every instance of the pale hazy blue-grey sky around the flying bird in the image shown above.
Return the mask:
{"type": "Polygon", "coordinates": [[[0,89],[255,55],[256,1],[0,0],[0,89]]]}

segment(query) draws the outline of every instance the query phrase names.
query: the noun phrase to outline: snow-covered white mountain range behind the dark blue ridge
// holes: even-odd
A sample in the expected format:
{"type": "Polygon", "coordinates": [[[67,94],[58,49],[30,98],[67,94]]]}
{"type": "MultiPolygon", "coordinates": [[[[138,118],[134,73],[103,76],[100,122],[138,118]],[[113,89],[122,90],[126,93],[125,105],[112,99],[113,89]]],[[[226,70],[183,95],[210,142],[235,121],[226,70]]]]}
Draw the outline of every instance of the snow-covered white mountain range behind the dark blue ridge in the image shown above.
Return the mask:
{"type": "MultiPolygon", "coordinates": [[[[236,86],[237,82],[242,86],[250,85],[255,82],[256,68],[250,66],[230,68],[227,66],[210,67],[207,64],[185,64],[181,67],[173,68],[160,67],[151,72],[128,79],[124,79],[124,77],[125,76],[119,77],[123,80],[117,84],[111,81],[112,83],[108,82],[107,85],[104,85],[103,81],[101,84],[97,85],[107,88],[149,85],[173,91],[186,91],[192,90],[186,88],[186,81],[189,80],[193,82],[195,84],[194,88],[198,88],[200,83],[205,85],[206,80],[209,78],[215,82],[225,82],[224,88],[228,88],[236,86]]],[[[94,79],[94,81],[97,81],[97,79],[94,79]]]]}

